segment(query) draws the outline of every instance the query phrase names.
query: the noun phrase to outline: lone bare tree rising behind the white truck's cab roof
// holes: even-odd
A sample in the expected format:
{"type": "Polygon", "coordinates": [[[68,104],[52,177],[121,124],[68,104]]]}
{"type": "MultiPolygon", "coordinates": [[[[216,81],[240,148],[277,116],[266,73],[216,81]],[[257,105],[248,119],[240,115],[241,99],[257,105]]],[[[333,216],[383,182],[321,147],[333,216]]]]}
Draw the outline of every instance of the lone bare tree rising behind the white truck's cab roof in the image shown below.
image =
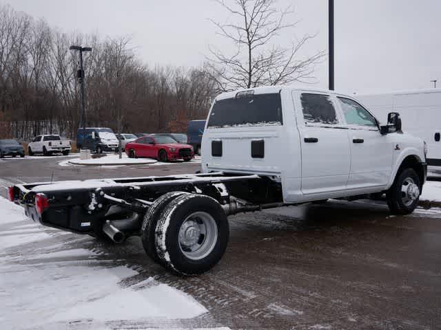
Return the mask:
{"type": "Polygon", "coordinates": [[[290,47],[278,45],[280,33],[296,25],[296,22],[287,23],[293,14],[291,7],[278,10],[277,0],[214,1],[227,10],[232,21],[212,22],[220,36],[236,47],[236,52],[227,54],[209,46],[207,60],[221,91],[293,81],[311,82],[314,65],[325,52],[300,56],[300,50],[314,35],[305,34],[300,40],[292,41],[290,47]]]}

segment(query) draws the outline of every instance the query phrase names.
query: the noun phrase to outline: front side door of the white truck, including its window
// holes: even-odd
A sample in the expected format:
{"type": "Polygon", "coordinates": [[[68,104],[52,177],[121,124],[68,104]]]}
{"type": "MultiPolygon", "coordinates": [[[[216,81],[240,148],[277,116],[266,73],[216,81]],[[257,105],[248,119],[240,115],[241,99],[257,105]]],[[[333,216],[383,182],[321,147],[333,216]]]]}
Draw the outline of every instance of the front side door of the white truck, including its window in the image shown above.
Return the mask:
{"type": "Polygon", "coordinates": [[[393,163],[391,135],[381,135],[376,119],[356,100],[342,96],[336,99],[349,130],[348,188],[387,186],[393,163]]]}

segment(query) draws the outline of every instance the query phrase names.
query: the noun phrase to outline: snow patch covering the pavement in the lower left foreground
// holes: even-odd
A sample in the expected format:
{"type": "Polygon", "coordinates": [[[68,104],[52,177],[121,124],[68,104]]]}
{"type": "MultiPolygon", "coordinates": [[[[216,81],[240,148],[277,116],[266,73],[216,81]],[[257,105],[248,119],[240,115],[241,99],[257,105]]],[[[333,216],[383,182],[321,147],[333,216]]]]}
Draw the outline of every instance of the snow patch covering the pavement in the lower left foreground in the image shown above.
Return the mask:
{"type": "Polygon", "coordinates": [[[176,320],[176,329],[207,313],[154,278],[124,285],[138,272],[109,266],[103,251],[70,248],[90,239],[32,223],[0,197],[0,329],[114,329],[121,320],[157,320],[155,329],[176,320]]]}

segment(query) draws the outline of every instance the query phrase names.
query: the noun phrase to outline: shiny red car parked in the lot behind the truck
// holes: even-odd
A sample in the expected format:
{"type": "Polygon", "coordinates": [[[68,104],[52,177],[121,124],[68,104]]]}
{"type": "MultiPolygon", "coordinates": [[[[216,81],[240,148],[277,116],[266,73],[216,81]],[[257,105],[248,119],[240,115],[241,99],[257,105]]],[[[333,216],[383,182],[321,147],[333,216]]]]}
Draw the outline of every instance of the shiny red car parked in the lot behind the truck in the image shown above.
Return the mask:
{"type": "Polygon", "coordinates": [[[160,162],[184,159],[189,162],[194,157],[193,147],[178,143],[170,136],[146,135],[125,145],[125,153],[130,158],[155,158],[160,162]]]}

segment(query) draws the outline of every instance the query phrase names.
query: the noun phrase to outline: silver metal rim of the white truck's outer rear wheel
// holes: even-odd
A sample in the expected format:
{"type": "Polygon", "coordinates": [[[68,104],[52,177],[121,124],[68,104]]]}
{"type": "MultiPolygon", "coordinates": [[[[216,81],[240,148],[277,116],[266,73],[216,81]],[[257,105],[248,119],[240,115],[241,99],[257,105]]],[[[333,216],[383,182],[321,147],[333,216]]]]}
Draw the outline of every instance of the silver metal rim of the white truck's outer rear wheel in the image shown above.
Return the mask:
{"type": "Polygon", "coordinates": [[[218,238],[218,227],[207,212],[190,214],[179,228],[179,248],[192,260],[205,258],[214,250],[218,238]]]}

